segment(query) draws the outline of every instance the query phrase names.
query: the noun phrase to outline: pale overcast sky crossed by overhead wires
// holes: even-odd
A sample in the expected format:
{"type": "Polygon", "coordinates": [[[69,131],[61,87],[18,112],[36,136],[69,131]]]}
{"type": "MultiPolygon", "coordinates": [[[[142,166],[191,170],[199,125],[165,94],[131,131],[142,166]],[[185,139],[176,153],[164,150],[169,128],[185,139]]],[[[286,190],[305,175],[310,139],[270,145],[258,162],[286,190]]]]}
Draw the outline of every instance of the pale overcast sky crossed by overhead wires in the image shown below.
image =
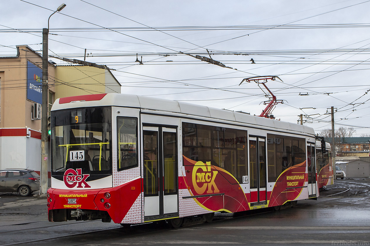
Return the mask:
{"type": "Polygon", "coordinates": [[[331,128],[333,106],[336,128],[370,134],[370,0],[0,0],[0,55],[15,56],[16,45],[41,52],[42,28],[62,3],[50,18],[49,55],[83,60],[87,49],[88,62],[116,69],[122,93],[259,115],[268,92],[239,84],[274,75],[283,82],[266,86],[283,100],[277,119],[303,114],[320,132],[331,128]]]}

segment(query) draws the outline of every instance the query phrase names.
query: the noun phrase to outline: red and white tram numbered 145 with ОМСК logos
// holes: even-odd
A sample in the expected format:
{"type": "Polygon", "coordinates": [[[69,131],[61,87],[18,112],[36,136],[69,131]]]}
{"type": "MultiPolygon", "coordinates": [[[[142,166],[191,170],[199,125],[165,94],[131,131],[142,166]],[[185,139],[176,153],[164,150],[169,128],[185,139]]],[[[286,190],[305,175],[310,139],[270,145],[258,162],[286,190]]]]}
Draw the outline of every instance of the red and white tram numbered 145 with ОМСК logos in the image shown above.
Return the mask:
{"type": "Polygon", "coordinates": [[[59,98],[48,219],[176,228],[295,205],[319,196],[316,145],[310,127],[243,112],[128,94],[59,98]]]}

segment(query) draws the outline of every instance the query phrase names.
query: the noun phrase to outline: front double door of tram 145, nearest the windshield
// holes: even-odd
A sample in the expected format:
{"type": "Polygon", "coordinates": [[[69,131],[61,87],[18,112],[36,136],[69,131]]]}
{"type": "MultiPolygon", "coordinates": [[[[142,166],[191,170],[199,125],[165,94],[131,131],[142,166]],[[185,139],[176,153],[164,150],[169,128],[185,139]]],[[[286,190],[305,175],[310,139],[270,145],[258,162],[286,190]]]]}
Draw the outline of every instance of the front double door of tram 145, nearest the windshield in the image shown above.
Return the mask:
{"type": "Polygon", "coordinates": [[[178,216],[177,128],[143,126],[144,221],[178,216]]]}

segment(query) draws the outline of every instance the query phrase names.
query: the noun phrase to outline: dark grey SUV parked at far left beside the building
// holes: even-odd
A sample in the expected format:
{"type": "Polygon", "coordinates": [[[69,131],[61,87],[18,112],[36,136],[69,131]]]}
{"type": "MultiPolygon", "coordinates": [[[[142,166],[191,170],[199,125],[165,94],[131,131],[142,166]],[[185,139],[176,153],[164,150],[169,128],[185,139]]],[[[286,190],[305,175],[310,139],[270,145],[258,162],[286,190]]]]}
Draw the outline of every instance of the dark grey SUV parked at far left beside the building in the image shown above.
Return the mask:
{"type": "Polygon", "coordinates": [[[26,197],[37,190],[40,190],[40,176],[34,170],[0,170],[0,192],[18,192],[26,197]]]}

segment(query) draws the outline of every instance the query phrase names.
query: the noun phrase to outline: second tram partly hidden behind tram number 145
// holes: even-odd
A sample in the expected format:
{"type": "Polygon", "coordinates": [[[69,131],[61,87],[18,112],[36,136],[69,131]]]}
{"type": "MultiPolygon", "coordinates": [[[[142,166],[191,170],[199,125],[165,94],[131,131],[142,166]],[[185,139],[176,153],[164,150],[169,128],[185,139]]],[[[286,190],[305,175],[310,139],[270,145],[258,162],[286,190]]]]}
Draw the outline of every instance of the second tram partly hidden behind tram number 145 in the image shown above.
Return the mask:
{"type": "Polygon", "coordinates": [[[334,184],[332,147],[330,143],[325,143],[325,145],[326,147],[322,151],[321,143],[316,141],[316,172],[319,190],[324,189],[327,185],[334,184]]]}

